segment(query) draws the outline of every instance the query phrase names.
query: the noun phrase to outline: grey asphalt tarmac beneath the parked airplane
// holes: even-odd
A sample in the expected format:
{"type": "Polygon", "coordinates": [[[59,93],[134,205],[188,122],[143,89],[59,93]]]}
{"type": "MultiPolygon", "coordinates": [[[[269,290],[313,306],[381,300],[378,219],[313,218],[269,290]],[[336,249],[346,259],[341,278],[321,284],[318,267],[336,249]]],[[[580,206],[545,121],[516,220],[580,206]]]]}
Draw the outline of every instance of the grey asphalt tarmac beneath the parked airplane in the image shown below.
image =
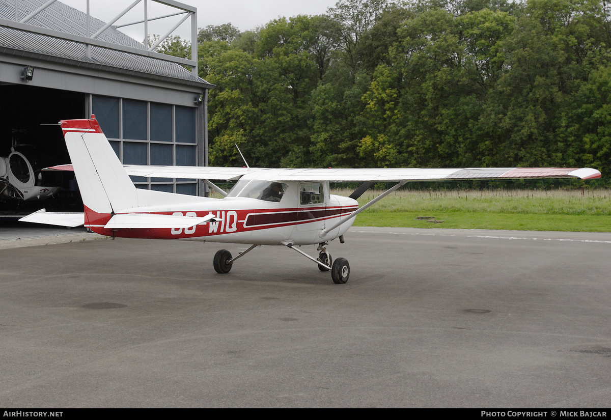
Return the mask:
{"type": "Polygon", "coordinates": [[[70,240],[0,250],[2,407],[609,407],[609,233],[70,240]]]}

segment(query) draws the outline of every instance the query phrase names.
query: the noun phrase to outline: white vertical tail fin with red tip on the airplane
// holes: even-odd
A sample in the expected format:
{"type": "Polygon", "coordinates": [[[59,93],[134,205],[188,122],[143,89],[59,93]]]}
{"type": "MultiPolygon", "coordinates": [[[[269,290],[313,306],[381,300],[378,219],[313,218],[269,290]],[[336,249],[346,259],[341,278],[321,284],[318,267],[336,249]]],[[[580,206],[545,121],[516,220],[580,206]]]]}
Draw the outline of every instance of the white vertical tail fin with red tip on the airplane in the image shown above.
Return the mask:
{"type": "Polygon", "coordinates": [[[76,181],[86,208],[112,214],[137,207],[137,191],[104,136],[95,115],[60,121],[76,181]]]}

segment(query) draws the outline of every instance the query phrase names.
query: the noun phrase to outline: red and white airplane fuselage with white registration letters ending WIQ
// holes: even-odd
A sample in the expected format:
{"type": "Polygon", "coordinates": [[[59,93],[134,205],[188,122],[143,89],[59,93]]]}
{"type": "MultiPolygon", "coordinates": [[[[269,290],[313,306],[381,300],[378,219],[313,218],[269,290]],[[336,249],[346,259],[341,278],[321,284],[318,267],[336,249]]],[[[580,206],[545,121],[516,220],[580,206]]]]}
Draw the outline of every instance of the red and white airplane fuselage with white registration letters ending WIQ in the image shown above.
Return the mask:
{"type": "MultiPolygon", "coordinates": [[[[290,183],[293,184],[293,183],[290,183]]],[[[296,183],[295,183],[296,184],[296,183]]],[[[164,214],[186,217],[205,217],[213,214],[216,222],[207,222],[189,228],[120,229],[104,228],[111,214],[100,214],[86,207],[85,225],[92,231],[113,237],[148,239],[181,239],[185,241],[232,242],[238,244],[280,245],[283,241],[295,245],[317,244],[344,234],[353,220],[323,233],[329,224],[344,219],[358,208],[358,203],[348,197],[326,194],[324,203],[300,206],[290,200],[290,185],[282,202],[272,203],[255,198],[226,197],[222,199],[186,197],[189,203],[179,208],[172,205],[155,205],[147,208],[147,214],[164,214]]],[[[328,190],[328,183],[325,186],[328,190]]],[[[139,191],[139,195],[163,197],[153,191],[139,191]]],[[[174,195],[175,197],[175,195],[174,195]]],[[[139,207],[137,213],[141,214],[139,207]]],[[[125,209],[120,214],[134,214],[125,209]]]]}

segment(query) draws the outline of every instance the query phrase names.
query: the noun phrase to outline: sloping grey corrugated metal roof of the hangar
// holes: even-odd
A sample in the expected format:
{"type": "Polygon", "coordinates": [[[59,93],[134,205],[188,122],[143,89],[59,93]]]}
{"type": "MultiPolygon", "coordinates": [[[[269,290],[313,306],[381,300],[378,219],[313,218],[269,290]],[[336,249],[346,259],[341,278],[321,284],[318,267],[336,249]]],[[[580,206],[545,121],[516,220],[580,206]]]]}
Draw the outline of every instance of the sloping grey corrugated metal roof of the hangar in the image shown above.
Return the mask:
{"type": "MultiPolygon", "coordinates": [[[[19,19],[25,18],[44,2],[44,0],[20,0],[19,19]]],[[[103,21],[92,16],[89,19],[90,33],[97,32],[105,25],[103,21]]],[[[123,34],[123,32],[117,31],[114,27],[109,27],[102,32],[97,40],[104,42],[104,45],[113,43],[119,49],[128,47],[139,50],[138,53],[120,51],[119,49],[113,49],[112,46],[107,48],[106,46],[95,45],[95,42],[92,42],[90,57],[88,57],[86,54],[87,45],[86,42],[83,42],[85,40],[79,40],[80,37],[86,37],[87,35],[86,13],[59,1],[54,2],[38,15],[35,15],[27,21],[27,24],[15,22],[15,2],[2,1],[0,2],[0,20],[0,23],[5,24],[5,26],[0,25],[0,53],[199,86],[202,89],[214,87],[214,85],[194,76],[191,71],[177,63],[149,56],[144,45],[123,34]],[[39,33],[37,28],[40,28],[41,32],[50,30],[48,31],[49,34],[39,33]],[[68,36],[66,38],[60,35],[53,36],[55,31],[63,32],[68,36]],[[70,37],[69,35],[73,36],[70,37]],[[140,51],[144,55],[139,54],[140,51]]]]}

